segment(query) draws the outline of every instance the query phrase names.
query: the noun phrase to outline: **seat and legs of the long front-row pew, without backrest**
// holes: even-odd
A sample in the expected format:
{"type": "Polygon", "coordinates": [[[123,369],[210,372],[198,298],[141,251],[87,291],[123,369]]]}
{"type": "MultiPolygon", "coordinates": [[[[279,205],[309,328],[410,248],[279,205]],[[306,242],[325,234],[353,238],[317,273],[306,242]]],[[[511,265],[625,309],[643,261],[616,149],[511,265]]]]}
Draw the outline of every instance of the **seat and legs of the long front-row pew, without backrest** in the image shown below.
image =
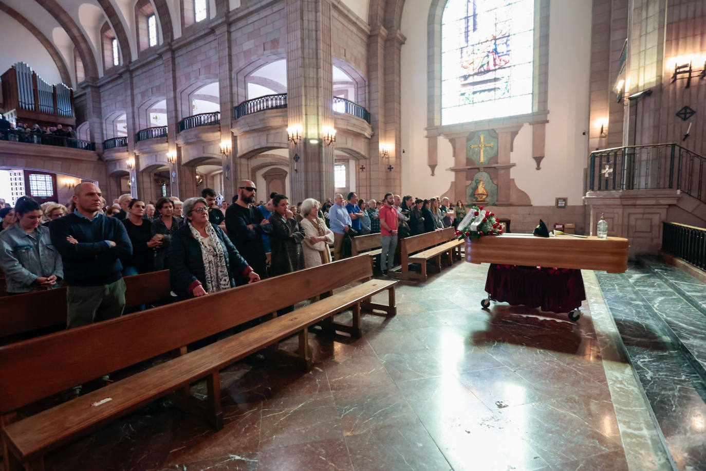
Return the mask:
{"type": "Polygon", "coordinates": [[[309,326],[328,320],[324,328],[359,337],[361,307],[396,314],[396,283],[392,280],[363,282],[199,350],[185,353],[184,349],[184,354],[177,358],[18,422],[6,424],[1,433],[3,442],[9,448],[6,459],[11,460],[8,463],[10,469],[25,467],[41,470],[44,465],[43,456],[47,452],[169,393],[176,393],[174,399],[178,405],[180,401],[193,405],[191,409],[200,411],[212,427],[221,429],[221,369],[297,333],[299,358],[309,367],[309,326]],[[387,306],[369,301],[373,295],[385,290],[388,290],[390,296],[387,306]],[[352,325],[333,322],[332,316],[346,309],[353,311],[352,325]],[[198,401],[188,395],[189,384],[201,378],[207,378],[208,397],[205,401],[198,401]]]}

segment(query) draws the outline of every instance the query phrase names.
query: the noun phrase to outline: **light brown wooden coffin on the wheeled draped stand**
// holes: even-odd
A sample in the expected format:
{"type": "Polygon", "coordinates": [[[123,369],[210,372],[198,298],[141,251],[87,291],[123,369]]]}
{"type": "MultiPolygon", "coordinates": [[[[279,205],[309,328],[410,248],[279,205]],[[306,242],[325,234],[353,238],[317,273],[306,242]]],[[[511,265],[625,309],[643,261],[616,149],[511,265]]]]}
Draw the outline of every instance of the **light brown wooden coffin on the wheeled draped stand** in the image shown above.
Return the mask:
{"type": "Polygon", "coordinates": [[[466,240],[466,260],[623,273],[628,269],[628,239],[568,235],[537,237],[532,234],[484,236],[471,242],[466,240]]]}

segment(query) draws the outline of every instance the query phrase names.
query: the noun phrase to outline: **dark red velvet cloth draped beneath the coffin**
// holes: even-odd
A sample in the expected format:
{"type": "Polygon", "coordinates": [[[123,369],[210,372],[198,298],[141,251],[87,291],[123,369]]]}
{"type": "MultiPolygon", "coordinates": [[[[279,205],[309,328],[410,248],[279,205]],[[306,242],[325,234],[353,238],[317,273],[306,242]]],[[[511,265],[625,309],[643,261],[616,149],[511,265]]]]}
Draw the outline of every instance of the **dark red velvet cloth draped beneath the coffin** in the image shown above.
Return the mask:
{"type": "Polygon", "coordinates": [[[499,302],[569,312],[586,299],[581,270],[491,264],[486,292],[499,302]]]}

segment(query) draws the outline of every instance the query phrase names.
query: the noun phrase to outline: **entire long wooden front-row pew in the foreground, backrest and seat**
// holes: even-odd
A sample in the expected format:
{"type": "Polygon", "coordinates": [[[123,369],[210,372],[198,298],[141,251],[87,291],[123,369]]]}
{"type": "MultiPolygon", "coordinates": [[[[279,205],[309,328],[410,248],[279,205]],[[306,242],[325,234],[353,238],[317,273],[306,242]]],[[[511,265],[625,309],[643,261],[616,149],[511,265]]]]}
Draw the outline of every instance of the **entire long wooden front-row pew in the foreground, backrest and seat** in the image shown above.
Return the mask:
{"type": "Polygon", "coordinates": [[[180,407],[223,426],[220,369],[291,335],[299,335],[299,358],[309,366],[309,326],[352,308],[353,325],[328,321],[332,330],[360,333],[361,303],[388,290],[388,314],[396,314],[395,281],[370,280],[369,257],[358,256],[269,278],[204,297],[141,311],[109,321],[0,347],[0,424],[8,469],[42,470],[44,454],[173,393],[180,407]],[[260,318],[316,295],[321,301],[265,321],[193,352],[186,345],[260,318]],[[179,356],[79,398],[18,420],[16,411],[62,390],[165,352],[179,356]],[[190,383],[206,378],[208,396],[198,402],[190,383]]]}

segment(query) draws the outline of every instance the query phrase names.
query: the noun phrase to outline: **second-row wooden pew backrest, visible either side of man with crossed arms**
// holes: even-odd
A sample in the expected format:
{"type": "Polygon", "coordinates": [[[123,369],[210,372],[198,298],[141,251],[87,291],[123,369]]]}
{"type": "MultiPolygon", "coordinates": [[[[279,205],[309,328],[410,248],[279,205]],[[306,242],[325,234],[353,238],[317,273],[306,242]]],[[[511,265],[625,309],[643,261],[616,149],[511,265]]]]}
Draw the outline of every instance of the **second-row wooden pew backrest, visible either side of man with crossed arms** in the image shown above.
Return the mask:
{"type": "MultiPolygon", "coordinates": [[[[169,270],[126,276],[126,309],[171,298],[169,270]]],[[[53,326],[66,326],[66,287],[2,298],[0,338],[53,326]]]]}

